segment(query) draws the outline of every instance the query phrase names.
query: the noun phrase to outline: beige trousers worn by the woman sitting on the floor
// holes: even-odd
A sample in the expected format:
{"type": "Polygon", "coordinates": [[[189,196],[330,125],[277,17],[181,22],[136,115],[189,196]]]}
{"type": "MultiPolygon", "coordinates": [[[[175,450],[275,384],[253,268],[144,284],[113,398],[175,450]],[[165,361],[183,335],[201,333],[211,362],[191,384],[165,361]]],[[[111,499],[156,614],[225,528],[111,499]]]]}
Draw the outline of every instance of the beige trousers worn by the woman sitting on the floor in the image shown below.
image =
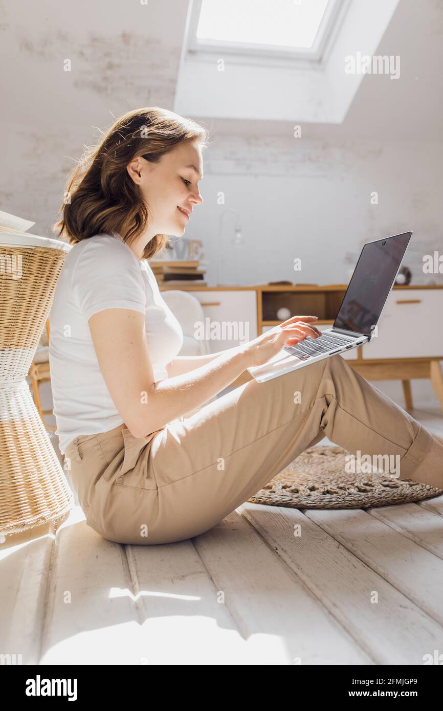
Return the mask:
{"type": "Polygon", "coordinates": [[[250,380],[146,437],[124,424],[76,437],[65,458],[87,524],[151,545],[212,528],[325,435],[352,454],[398,455],[398,478],[443,488],[443,440],[339,354],[250,380]]]}

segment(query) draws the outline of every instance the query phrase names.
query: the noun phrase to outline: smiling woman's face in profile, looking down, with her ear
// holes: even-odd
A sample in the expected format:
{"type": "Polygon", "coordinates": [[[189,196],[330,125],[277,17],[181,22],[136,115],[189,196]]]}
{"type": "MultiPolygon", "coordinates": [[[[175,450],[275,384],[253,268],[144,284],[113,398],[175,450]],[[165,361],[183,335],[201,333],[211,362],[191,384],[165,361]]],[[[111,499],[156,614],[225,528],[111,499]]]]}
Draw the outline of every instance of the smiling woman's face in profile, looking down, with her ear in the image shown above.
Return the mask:
{"type": "Polygon", "coordinates": [[[138,157],[127,170],[149,206],[149,233],[183,236],[192,219],[191,212],[203,203],[198,188],[203,161],[196,141],[179,144],[162,156],[159,163],[138,157]]]}

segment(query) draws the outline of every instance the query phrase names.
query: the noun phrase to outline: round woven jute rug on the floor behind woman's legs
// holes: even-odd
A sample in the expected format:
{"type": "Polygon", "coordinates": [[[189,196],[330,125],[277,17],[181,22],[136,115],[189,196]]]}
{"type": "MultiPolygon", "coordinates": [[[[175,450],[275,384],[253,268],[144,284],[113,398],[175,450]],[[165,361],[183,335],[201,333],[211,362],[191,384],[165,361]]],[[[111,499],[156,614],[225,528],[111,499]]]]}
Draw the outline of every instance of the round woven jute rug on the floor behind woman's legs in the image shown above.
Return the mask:
{"type": "Polygon", "coordinates": [[[389,473],[353,473],[348,471],[349,457],[342,447],[310,447],[248,501],[289,508],[368,508],[421,501],[443,493],[429,484],[395,479],[389,473]]]}

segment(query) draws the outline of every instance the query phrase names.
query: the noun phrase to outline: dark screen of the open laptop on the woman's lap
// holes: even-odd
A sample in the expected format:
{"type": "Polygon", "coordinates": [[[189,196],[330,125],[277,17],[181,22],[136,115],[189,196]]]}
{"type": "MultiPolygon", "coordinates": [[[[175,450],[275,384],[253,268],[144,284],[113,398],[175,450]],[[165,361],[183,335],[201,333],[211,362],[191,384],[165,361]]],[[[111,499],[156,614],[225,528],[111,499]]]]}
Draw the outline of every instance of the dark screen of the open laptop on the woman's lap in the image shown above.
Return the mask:
{"type": "Polygon", "coordinates": [[[412,232],[405,232],[386,240],[368,242],[363,247],[333,328],[370,336],[371,326],[377,324],[393,287],[411,235],[412,232]]]}

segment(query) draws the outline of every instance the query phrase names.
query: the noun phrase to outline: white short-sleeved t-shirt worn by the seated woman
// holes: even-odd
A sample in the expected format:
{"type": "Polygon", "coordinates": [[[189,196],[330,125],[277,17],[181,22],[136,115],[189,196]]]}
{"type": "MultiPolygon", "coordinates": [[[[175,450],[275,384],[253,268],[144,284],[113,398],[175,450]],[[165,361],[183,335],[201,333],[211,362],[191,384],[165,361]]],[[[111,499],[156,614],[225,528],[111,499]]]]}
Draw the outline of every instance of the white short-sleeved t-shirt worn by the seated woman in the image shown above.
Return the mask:
{"type": "Polygon", "coordinates": [[[65,449],[80,434],[107,432],[120,417],[98,364],[88,319],[103,309],[146,315],[146,342],[154,380],[183,344],[183,331],[159,291],[147,260],[139,260],[117,232],[81,240],[68,253],[49,314],[53,412],[65,449]]]}

